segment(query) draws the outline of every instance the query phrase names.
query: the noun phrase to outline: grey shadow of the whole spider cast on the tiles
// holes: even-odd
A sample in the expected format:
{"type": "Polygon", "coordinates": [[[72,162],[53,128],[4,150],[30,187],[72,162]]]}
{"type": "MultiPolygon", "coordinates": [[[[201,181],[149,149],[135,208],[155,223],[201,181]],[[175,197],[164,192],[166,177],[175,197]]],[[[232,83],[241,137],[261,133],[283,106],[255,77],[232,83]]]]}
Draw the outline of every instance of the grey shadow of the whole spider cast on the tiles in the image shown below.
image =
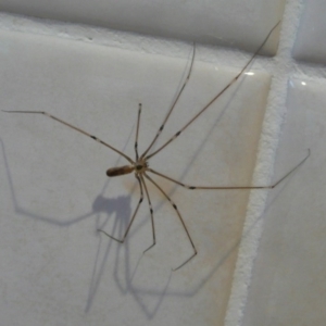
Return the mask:
{"type": "MultiPolygon", "coordinates": [[[[216,118],[216,122],[215,122],[215,124],[212,128],[214,128],[218,125],[218,122],[223,117],[226,110],[227,110],[227,105],[220,113],[220,115],[216,118]]],[[[212,129],[209,130],[209,133],[205,137],[205,141],[210,137],[211,133],[212,133],[212,129]]],[[[130,133],[130,135],[131,135],[131,133],[130,133]]],[[[14,185],[13,185],[13,180],[12,180],[12,177],[11,177],[11,171],[10,171],[10,166],[9,166],[9,163],[8,163],[5,149],[4,149],[4,145],[3,145],[2,139],[0,139],[0,143],[1,143],[1,148],[2,148],[2,156],[3,156],[3,160],[4,160],[4,166],[5,166],[5,170],[7,170],[8,181],[9,181],[9,185],[10,185],[10,191],[11,191],[11,196],[12,196],[12,199],[13,199],[14,210],[15,210],[16,213],[25,215],[27,217],[35,218],[37,221],[50,223],[50,224],[53,224],[53,225],[57,225],[57,226],[60,226],[60,227],[68,227],[71,225],[74,225],[75,223],[84,221],[85,218],[92,217],[93,215],[96,215],[96,228],[97,229],[103,227],[103,225],[108,222],[108,220],[111,218],[112,214],[115,214],[115,216],[116,216],[115,221],[116,222],[115,222],[113,230],[112,230],[113,234],[120,233],[120,230],[124,231],[126,229],[126,226],[129,222],[130,214],[131,214],[131,203],[130,203],[131,195],[129,195],[129,196],[120,196],[120,197],[114,198],[114,199],[105,198],[103,196],[103,193],[104,193],[105,189],[109,188],[109,186],[110,186],[110,179],[106,180],[106,183],[105,183],[104,187],[102,188],[100,195],[98,195],[97,198],[95,199],[91,212],[88,212],[86,214],[77,216],[77,217],[75,217],[71,221],[60,222],[60,221],[57,221],[55,218],[50,218],[50,217],[47,217],[47,216],[41,216],[41,215],[38,215],[38,214],[35,214],[35,213],[32,213],[28,210],[22,208],[20,205],[20,202],[18,202],[18,200],[16,198],[16,195],[15,195],[15,191],[14,191],[14,185]],[[106,215],[106,217],[104,218],[104,222],[103,222],[103,218],[101,218],[99,216],[102,213],[104,213],[106,215]]],[[[201,151],[201,148],[199,148],[196,151],[192,160],[196,160],[196,156],[200,155],[200,151],[201,151]]],[[[192,162],[192,160],[191,160],[191,162],[192,162]]],[[[191,162],[190,162],[190,164],[191,164],[191,162]]],[[[116,163],[118,163],[118,160],[117,160],[116,163]]],[[[181,178],[184,178],[187,175],[187,173],[188,173],[188,167],[185,170],[184,174],[181,175],[181,178]]],[[[281,191],[286,188],[287,184],[290,181],[290,178],[287,179],[286,183],[283,184],[281,188],[278,187],[277,196],[275,198],[273,198],[273,202],[269,202],[269,205],[274,204],[274,201],[281,193],[281,191]]],[[[134,185],[134,187],[131,189],[131,193],[133,193],[136,185],[137,184],[134,185]]],[[[168,195],[172,196],[173,192],[176,190],[176,188],[177,188],[177,186],[174,187],[170,191],[168,195]]],[[[163,204],[163,201],[156,205],[155,210],[158,210],[162,204],[163,204]]],[[[268,210],[268,206],[266,206],[266,208],[267,208],[266,210],[268,210]]],[[[121,258],[120,251],[121,250],[125,251],[125,256],[124,256],[125,265],[126,265],[125,277],[124,277],[125,278],[125,286],[123,286],[120,281],[121,273],[117,269],[117,267],[114,271],[114,278],[116,279],[116,284],[118,285],[118,288],[120,288],[121,292],[122,293],[131,293],[133,297],[135,298],[135,300],[138,302],[141,310],[143,311],[143,313],[148,316],[149,319],[151,319],[155,315],[158,310],[160,309],[160,305],[162,304],[163,299],[166,296],[177,296],[177,297],[185,297],[185,296],[191,297],[191,296],[195,296],[196,292],[198,292],[200,290],[200,288],[203,287],[208,283],[208,280],[216,273],[216,271],[224,264],[224,262],[233,254],[233,252],[235,252],[238,249],[240,242],[243,240],[243,238],[249,236],[251,229],[255,226],[255,224],[261,218],[263,218],[263,215],[264,214],[262,214],[252,224],[252,226],[249,227],[248,231],[246,234],[243,234],[242,237],[239,238],[234,243],[234,246],[225,252],[224,256],[221,258],[216,262],[215,266],[212,266],[211,272],[206,275],[206,277],[204,279],[202,279],[197,285],[197,288],[192,288],[189,291],[168,291],[167,292],[173,273],[171,273],[168,279],[166,280],[165,287],[163,287],[160,291],[151,291],[150,292],[148,290],[145,291],[145,290],[141,290],[141,289],[137,289],[137,287],[134,287],[133,278],[135,276],[135,273],[137,272],[137,267],[138,267],[139,261],[141,260],[142,255],[139,258],[138,263],[137,263],[136,267],[134,268],[134,271],[130,272],[131,267],[129,265],[129,255],[128,255],[128,252],[129,252],[128,246],[129,246],[129,243],[128,243],[128,238],[127,238],[124,244],[116,247],[117,249],[116,249],[116,254],[115,254],[115,266],[117,266],[118,265],[118,260],[121,258]],[[153,296],[158,297],[158,300],[156,300],[155,305],[154,305],[153,309],[149,310],[147,304],[143,302],[142,297],[141,297],[141,294],[143,294],[143,292],[147,292],[151,297],[153,297],[153,296]]],[[[140,227],[140,226],[138,226],[138,227],[140,227]]],[[[136,231],[137,231],[137,229],[134,229],[134,233],[136,233],[136,231]]],[[[98,287],[100,285],[100,280],[102,278],[102,275],[103,275],[104,271],[105,271],[105,264],[109,260],[109,255],[110,255],[110,252],[112,250],[112,244],[113,243],[115,243],[115,241],[113,241],[112,239],[109,239],[109,241],[108,241],[108,240],[105,240],[104,237],[99,237],[98,251],[97,251],[97,254],[96,254],[96,258],[95,258],[93,272],[92,272],[91,281],[90,281],[90,285],[89,285],[87,304],[86,304],[86,308],[85,308],[86,313],[91,309],[93,298],[97,293],[98,287]],[[100,251],[101,251],[101,248],[103,248],[103,247],[105,248],[104,249],[104,256],[101,259],[100,258],[100,251]]]]}

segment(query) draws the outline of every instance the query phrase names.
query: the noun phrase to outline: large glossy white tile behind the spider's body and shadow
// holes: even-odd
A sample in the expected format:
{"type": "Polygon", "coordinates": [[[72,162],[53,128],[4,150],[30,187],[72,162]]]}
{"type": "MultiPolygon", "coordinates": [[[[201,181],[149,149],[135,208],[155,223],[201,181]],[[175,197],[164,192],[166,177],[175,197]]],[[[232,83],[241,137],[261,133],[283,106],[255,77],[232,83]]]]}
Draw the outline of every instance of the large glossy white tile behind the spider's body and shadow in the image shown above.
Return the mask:
{"type": "MultiPolygon", "coordinates": [[[[143,150],[189,65],[10,32],[1,32],[0,60],[2,110],[48,111],[130,156],[138,103],[143,150]]],[[[196,62],[160,142],[237,73],[196,62]]],[[[195,185],[250,184],[269,83],[264,73],[241,78],[153,158],[151,167],[195,185]]],[[[103,227],[122,236],[139,200],[133,175],[105,176],[106,168],[126,161],[42,115],[1,112],[0,124],[3,324],[223,325],[248,192],[191,191],[158,179],[199,251],[172,273],[191,246],[174,210],[152,187],[153,249],[142,255],[152,241],[146,201],[124,244],[96,233],[103,227]]]]}

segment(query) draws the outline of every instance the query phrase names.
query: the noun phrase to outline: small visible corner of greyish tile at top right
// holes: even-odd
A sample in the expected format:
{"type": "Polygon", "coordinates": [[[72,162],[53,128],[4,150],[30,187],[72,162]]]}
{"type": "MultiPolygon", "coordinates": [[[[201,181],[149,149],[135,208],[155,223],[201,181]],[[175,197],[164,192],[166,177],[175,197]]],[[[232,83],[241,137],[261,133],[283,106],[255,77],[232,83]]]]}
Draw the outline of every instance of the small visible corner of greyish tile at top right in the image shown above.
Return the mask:
{"type": "Polygon", "coordinates": [[[310,62],[326,63],[326,2],[305,1],[300,21],[293,58],[310,62]]]}

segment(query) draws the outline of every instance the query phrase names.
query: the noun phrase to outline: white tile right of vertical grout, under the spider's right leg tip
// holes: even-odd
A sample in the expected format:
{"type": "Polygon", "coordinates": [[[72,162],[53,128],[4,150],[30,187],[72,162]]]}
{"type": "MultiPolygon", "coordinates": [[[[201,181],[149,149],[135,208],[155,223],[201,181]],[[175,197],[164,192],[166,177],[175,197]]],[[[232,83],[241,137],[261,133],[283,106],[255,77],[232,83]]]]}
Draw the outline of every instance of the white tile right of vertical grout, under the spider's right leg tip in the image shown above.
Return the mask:
{"type": "Polygon", "coordinates": [[[264,222],[243,325],[324,325],[326,314],[325,80],[291,79],[276,175],[311,156],[276,188],[264,222]]]}

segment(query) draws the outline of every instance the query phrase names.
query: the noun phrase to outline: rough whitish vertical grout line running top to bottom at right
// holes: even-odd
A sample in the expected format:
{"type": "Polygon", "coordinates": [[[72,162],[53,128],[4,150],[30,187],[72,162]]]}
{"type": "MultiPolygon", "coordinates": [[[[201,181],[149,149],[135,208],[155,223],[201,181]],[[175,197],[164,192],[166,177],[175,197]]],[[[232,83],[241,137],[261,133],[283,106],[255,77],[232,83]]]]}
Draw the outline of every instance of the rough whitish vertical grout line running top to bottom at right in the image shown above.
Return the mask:
{"type": "MultiPolygon", "coordinates": [[[[302,11],[303,0],[288,0],[286,2],[278,51],[272,65],[274,72],[271,72],[273,78],[259,145],[258,163],[253,174],[253,180],[256,183],[271,181],[276,151],[279,141],[281,141],[281,128],[287,115],[288,79],[298,71],[291,51],[296,42],[302,11]],[[263,171],[269,173],[264,175],[263,171]]],[[[267,195],[268,191],[252,191],[249,198],[230,299],[226,311],[226,326],[239,326],[243,322],[254,259],[263,233],[263,214],[267,195]]]]}

